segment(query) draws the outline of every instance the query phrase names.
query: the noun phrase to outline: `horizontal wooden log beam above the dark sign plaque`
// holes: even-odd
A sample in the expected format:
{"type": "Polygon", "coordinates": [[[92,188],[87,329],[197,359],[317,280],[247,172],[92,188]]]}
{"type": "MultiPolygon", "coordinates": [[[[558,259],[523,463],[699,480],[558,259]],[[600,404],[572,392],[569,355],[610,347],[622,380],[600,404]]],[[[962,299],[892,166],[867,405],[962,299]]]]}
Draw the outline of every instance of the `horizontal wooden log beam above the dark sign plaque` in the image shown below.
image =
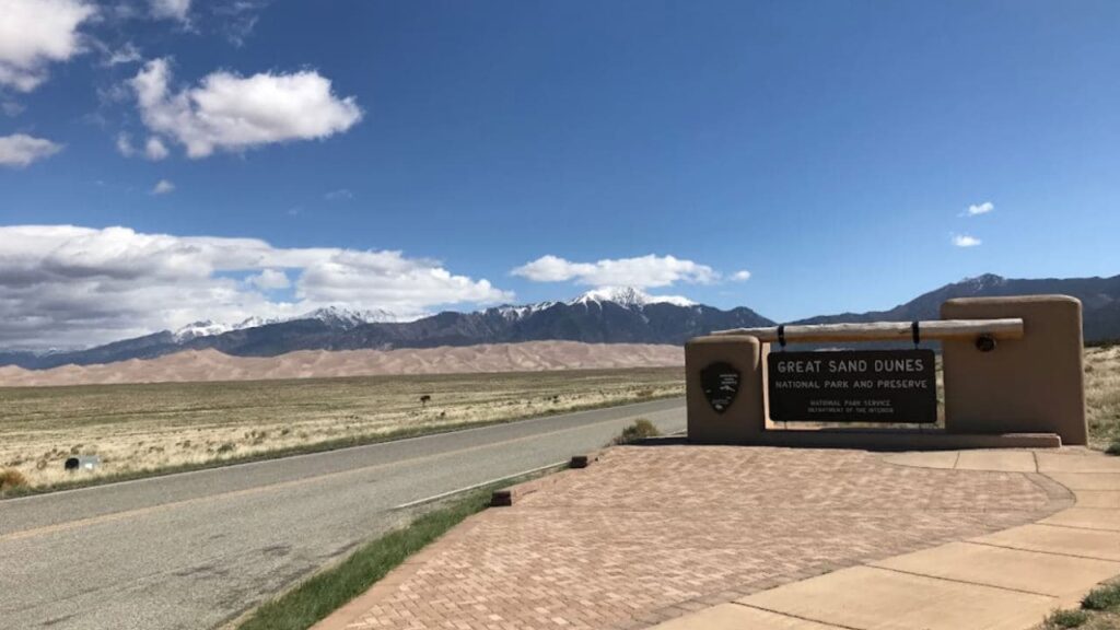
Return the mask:
{"type": "MultiPolygon", "coordinates": [[[[787,343],[821,343],[832,341],[911,341],[913,322],[868,322],[851,324],[801,324],[785,326],[787,343]]],[[[918,333],[924,341],[976,339],[1023,339],[1023,319],[932,319],[918,322],[918,333]]],[[[750,335],[762,342],[776,342],[777,326],[760,328],[731,328],[716,331],[713,335],[750,335]]]]}

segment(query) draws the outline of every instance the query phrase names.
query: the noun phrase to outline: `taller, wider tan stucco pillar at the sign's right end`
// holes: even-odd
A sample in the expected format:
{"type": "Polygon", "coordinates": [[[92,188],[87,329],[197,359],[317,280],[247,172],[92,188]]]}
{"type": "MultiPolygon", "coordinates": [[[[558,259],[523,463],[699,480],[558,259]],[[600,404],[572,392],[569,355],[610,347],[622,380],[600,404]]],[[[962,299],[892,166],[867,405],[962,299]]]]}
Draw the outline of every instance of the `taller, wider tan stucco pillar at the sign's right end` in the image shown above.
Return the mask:
{"type": "Polygon", "coordinates": [[[958,298],[943,319],[1021,317],[1024,336],[982,352],[974,340],[943,343],[945,430],[1056,433],[1085,444],[1081,302],[1048,295],[958,298]]]}

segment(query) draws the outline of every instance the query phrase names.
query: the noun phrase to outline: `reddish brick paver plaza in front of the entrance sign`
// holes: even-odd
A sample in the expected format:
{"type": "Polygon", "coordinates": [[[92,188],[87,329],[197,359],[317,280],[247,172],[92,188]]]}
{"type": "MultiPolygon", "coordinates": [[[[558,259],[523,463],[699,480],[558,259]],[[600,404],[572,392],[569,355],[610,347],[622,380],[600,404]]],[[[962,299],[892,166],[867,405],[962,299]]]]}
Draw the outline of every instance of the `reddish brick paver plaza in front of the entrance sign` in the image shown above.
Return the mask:
{"type": "Polygon", "coordinates": [[[525,490],[398,569],[347,628],[644,628],[1035,521],[1070,497],[1036,473],[678,445],[612,448],[525,490]]]}

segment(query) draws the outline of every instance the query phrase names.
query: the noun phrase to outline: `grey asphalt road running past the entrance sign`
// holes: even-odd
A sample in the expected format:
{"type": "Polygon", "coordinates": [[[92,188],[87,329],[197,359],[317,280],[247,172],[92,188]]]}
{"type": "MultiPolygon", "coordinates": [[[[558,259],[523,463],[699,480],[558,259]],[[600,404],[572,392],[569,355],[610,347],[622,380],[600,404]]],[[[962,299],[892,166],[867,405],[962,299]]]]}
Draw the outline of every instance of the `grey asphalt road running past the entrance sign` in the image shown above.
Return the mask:
{"type": "Polygon", "coordinates": [[[568,460],[683,399],[0,501],[0,628],[221,626],[407,520],[402,504],[568,460]]]}

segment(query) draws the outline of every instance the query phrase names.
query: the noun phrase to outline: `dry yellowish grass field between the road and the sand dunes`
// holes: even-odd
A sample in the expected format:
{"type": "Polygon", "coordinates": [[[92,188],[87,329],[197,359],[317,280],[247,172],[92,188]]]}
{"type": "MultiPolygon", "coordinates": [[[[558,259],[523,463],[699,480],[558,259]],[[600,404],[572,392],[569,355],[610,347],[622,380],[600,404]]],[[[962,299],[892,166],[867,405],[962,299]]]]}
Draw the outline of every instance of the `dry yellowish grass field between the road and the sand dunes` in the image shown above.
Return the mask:
{"type": "Polygon", "coordinates": [[[683,392],[681,368],[0,388],[0,470],[44,487],[683,392]]]}

